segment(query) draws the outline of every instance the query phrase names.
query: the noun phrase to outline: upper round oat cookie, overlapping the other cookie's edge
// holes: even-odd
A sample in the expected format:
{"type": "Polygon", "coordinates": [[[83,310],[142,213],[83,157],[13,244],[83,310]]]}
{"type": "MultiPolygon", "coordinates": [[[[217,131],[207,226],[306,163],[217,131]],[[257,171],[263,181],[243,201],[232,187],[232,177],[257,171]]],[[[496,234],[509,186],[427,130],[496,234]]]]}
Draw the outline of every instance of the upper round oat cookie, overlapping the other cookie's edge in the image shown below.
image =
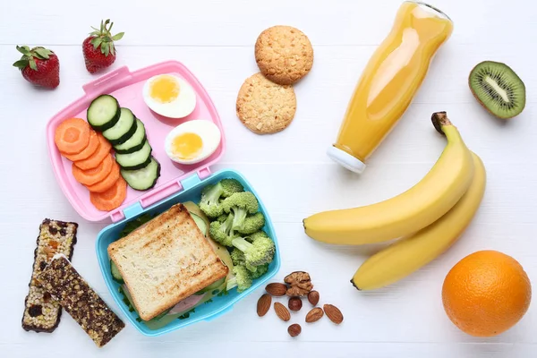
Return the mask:
{"type": "Polygon", "coordinates": [[[310,72],[313,47],[301,30],[273,26],[260,33],[255,43],[255,61],[268,80],[293,84],[310,72]]]}

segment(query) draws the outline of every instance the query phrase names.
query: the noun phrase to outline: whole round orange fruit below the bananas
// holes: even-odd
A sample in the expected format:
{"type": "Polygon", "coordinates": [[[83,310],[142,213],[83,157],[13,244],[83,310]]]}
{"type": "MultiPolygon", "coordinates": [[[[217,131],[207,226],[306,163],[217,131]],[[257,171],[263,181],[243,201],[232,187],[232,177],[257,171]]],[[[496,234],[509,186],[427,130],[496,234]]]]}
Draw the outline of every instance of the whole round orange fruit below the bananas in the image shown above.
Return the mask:
{"type": "Polygon", "coordinates": [[[499,251],[477,251],[447,273],[442,303],[456,327],[492,337],[513,327],[530,306],[532,286],[518,261],[499,251]]]}

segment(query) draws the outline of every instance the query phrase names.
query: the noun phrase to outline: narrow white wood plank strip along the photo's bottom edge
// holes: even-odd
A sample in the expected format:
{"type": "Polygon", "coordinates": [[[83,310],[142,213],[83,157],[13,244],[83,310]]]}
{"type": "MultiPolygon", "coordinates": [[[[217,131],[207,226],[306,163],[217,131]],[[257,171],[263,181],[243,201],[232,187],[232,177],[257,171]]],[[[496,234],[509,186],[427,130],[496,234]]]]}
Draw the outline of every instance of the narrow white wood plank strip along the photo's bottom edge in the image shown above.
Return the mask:
{"type": "MultiPolygon", "coordinates": [[[[7,354],[21,358],[30,358],[33,355],[27,354],[24,345],[12,345],[7,354]]],[[[92,349],[90,345],[83,348],[92,349]]],[[[149,342],[135,341],[131,343],[122,342],[119,345],[108,346],[99,352],[99,356],[115,357],[124,356],[125,352],[133,354],[136,352],[137,358],[152,358],[154,356],[169,358],[176,357],[177,354],[196,354],[219,356],[234,356],[238,349],[245,349],[242,342],[227,342],[227,343],[211,343],[200,344],[192,342],[165,342],[158,345],[149,342]]],[[[392,358],[415,357],[415,356],[434,356],[438,358],[527,358],[527,352],[532,353],[536,349],[532,344],[441,344],[441,343],[355,343],[355,342],[303,342],[296,340],[291,342],[255,342],[254,345],[248,347],[251,352],[254,352],[256,357],[271,358],[275,356],[310,356],[310,357],[334,357],[345,358],[350,354],[359,354],[368,358],[392,358]]],[[[40,354],[43,358],[55,358],[58,356],[58,351],[48,350],[40,354]]],[[[60,355],[61,356],[61,355],[60,355]]],[[[67,355],[66,355],[67,356],[67,355]]]]}

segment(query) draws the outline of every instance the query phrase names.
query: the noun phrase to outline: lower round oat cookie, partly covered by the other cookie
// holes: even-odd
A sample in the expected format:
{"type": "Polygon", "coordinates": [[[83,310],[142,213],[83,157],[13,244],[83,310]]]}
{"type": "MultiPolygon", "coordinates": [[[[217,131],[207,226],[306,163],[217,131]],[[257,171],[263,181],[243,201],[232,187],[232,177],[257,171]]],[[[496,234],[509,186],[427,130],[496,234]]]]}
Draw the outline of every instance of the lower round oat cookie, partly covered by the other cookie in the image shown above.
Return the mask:
{"type": "Polygon", "coordinates": [[[237,96],[237,116],[258,134],[283,131],[296,112],[296,97],[291,86],[268,81],[260,72],[244,81],[237,96]]]}

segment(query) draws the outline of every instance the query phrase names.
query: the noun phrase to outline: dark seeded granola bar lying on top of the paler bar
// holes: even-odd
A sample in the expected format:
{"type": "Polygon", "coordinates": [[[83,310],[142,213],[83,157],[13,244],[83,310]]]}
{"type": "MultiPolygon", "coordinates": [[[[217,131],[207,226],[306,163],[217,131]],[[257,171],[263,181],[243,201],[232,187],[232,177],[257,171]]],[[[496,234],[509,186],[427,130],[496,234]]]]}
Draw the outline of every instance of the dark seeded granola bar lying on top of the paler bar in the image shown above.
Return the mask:
{"type": "Polygon", "coordinates": [[[56,255],[38,280],[98,347],[125,327],[65,256],[56,255]]]}

